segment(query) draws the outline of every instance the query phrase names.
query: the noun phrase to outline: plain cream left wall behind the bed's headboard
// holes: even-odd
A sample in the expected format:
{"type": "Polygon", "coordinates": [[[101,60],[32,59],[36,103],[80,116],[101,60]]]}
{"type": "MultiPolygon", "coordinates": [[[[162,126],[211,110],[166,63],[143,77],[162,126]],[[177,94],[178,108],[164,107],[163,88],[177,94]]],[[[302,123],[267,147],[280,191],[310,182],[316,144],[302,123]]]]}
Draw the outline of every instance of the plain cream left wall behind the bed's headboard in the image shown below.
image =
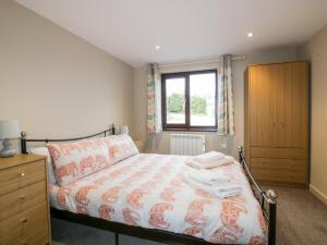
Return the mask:
{"type": "Polygon", "coordinates": [[[0,1],[0,119],[31,137],[133,123],[133,69],[12,0],[0,1]]]}

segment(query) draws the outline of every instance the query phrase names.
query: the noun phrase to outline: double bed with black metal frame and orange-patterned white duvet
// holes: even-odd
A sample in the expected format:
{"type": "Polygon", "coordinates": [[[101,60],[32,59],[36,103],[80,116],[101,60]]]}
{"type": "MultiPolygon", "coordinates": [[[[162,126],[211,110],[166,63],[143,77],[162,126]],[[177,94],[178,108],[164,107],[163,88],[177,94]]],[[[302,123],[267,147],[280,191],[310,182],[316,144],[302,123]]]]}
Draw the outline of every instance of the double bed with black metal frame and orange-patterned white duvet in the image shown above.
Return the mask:
{"type": "MultiPolygon", "coordinates": [[[[27,139],[28,142],[80,140],[27,139]]],[[[51,216],[119,234],[169,244],[275,245],[276,194],[253,180],[240,149],[240,162],[217,168],[242,185],[239,196],[219,199],[183,181],[187,157],[137,154],[64,186],[50,184],[51,216]]]]}

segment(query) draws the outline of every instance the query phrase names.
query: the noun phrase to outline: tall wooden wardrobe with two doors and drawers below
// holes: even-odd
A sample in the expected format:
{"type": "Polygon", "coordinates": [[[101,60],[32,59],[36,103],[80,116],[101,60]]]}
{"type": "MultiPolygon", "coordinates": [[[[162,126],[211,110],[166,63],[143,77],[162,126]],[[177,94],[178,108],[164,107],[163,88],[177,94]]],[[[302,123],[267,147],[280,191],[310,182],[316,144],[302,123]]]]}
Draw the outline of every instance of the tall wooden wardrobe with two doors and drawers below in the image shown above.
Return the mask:
{"type": "Polygon", "coordinates": [[[250,65],[244,86],[245,158],[264,184],[307,184],[308,64],[250,65]]]}

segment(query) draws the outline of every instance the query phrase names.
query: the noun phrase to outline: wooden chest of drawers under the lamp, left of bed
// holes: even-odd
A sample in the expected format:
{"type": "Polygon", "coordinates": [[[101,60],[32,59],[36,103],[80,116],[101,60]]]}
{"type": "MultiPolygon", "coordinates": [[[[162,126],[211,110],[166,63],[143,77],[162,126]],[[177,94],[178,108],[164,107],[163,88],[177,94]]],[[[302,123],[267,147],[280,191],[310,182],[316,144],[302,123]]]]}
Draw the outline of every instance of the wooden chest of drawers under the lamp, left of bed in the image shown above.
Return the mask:
{"type": "Polygon", "coordinates": [[[47,161],[37,155],[0,158],[0,244],[51,244],[47,161]]]}

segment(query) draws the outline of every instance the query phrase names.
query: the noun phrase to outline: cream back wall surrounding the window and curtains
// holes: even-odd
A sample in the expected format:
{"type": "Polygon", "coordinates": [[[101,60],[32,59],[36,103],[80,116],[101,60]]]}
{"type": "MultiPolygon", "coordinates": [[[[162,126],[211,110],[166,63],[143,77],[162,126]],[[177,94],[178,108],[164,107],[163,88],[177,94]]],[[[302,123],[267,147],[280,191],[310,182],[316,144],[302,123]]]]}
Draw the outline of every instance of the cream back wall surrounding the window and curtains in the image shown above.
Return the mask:
{"type": "MultiPolygon", "coordinates": [[[[244,111],[243,111],[243,84],[244,72],[246,66],[252,63],[270,63],[280,61],[296,60],[295,49],[280,49],[269,50],[255,53],[249,53],[246,60],[239,60],[233,62],[233,97],[234,97],[234,120],[235,120],[235,135],[233,137],[218,136],[215,133],[205,133],[206,149],[220,150],[226,154],[238,155],[238,147],[243,145],[244,135],[244,111]],[[223,149],[221,144],[227,144],[223,149]]],[[[206,65],[192,66],[177,66],[161,69],[160,72],[179,72],[191,70],[216,69],[218,63],[210,63],[206,65]]],[[[169,154],[169,135],[170,132],[162,132],[158,135],[150,135],[146,133],[146,70],[145,68],[137,68],[134,70],[134,119],[135,119],[135,137],[145,139],[146,151],[169,154]]],[[[202,133],[199,133],[202,134],[202,133]]]]}

